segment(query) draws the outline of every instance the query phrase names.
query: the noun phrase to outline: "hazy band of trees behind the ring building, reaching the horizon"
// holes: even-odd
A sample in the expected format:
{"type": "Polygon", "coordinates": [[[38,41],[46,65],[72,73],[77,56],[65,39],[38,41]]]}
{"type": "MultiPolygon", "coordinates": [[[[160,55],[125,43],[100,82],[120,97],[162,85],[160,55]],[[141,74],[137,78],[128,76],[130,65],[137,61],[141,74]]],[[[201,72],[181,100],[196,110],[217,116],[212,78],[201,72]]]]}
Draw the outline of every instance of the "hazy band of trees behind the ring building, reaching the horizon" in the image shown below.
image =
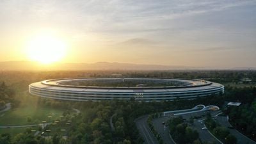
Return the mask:
{"type": "Polygon", "coordinates": [[[168,77],[183,79],[206,79],[218,83],[237,83],[248,77],[256,81],[255,70],[86,70],[86,71],[0,71],[0,81],[15,90],[27,90],[28,84],[45,79],[65,77],[168,77]],[[118,74],[118,75],[116,75],[118,74]]]}

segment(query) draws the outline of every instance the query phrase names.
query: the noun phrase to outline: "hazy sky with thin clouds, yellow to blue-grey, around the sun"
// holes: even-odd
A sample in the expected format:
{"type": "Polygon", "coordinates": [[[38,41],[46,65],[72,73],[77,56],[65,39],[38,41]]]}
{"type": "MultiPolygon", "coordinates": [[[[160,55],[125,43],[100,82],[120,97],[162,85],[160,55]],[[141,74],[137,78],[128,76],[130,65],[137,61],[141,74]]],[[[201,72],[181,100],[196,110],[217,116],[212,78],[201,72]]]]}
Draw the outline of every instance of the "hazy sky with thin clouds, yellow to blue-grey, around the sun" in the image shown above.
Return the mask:
{"type": "Polygon", "coordinates": [[[0,61],[53,31],[65,62],[256,67],[256,1],[1,0],[0,61]]]}

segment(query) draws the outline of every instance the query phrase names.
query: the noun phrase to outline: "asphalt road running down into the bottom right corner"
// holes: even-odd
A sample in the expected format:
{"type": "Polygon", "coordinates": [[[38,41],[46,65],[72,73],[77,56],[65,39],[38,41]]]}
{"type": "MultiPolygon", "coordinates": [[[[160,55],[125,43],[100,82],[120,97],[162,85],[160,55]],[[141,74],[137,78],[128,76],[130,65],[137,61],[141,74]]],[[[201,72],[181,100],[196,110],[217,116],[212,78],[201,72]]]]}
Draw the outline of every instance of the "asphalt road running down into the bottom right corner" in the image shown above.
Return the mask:
{"type": "MultiPolygon", "coordinates": [[[[228,129],[228,127],[232,127],[232,125],[229,124],[226,116],[216,116],[217,122],[228,129]]],[[[243,134],[241,134],[236,129],[229,129],[230,133],[233,134],[237,138],[237,144],[256,144],[255,141],[251,140],[250,138],[247,138],[243,134]]]]}

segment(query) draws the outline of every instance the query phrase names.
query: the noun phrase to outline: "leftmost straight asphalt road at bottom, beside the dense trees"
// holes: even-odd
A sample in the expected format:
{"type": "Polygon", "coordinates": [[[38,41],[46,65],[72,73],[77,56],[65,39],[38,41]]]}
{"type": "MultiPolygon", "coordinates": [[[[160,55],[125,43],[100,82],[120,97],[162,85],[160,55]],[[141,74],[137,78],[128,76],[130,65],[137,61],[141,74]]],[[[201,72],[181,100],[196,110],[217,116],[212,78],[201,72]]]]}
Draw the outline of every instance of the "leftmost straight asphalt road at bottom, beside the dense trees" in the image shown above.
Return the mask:
{"type": "Polygon", "coordinates": [[[145,144],[158,144],[154,134],[151,132],[150,128],[147,124],[148,115],[142,116],[135,120],[136,126],[140,131],[140,135],[142,136],[145,144]]]}

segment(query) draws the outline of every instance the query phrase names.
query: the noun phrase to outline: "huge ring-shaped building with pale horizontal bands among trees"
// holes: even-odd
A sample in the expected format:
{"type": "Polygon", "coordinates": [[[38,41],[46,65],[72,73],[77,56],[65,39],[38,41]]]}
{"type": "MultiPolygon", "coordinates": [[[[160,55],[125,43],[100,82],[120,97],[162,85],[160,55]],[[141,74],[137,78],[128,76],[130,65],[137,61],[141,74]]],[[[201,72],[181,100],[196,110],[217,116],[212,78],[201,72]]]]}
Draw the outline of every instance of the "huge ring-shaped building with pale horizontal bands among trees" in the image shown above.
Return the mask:
{"type": "Polygon", "coordinates": [[[29,84],[29,93],[59,100],[174,100],[221,95],[224,86],[210,81],[159,78],[70,78],[29,84]]]}

